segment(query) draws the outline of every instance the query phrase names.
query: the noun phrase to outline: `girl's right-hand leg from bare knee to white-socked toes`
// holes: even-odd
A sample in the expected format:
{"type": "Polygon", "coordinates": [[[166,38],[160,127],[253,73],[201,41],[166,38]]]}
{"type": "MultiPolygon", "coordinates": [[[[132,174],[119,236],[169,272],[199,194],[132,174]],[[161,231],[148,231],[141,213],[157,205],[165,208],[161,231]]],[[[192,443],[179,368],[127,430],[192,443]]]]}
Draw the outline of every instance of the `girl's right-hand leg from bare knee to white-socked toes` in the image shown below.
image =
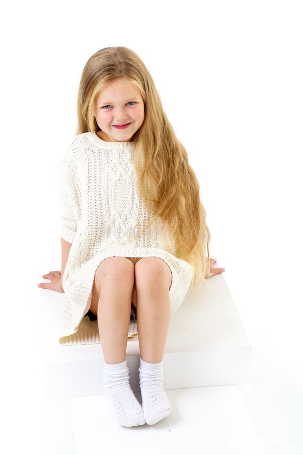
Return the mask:
{"type": "Polygon", "coordinates": [[[142,258],[135,265],[137,326],[140,345],[139,381],[147,424],[171,413],[163,387],[163,354],[170,320],[171,271],[160,258],[142,258]]]}

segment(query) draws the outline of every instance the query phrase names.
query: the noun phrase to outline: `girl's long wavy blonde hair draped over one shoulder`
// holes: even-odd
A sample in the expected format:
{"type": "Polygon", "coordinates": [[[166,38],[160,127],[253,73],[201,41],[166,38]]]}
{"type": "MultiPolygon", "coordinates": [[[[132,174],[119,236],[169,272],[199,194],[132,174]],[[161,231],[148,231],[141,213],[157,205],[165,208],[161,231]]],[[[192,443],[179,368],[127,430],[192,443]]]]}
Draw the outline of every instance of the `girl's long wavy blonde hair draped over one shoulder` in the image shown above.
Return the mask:
{"type": "Polygon", "coordinates": [[[199,183],[163,110],[154,80],[136,53],[125,47],[109,47],[89,58],[79,85],[77,134],[100,130],[93,114],[95,98],[119,78],[134,84],[144,102],[144,121],[132,143],[138,190],[153,215],[149,224],[159,218],[165,223],[175,245],[174,254],[193,266],[190,288],[200,287],[210,276],[211,236],[199,183]]]}

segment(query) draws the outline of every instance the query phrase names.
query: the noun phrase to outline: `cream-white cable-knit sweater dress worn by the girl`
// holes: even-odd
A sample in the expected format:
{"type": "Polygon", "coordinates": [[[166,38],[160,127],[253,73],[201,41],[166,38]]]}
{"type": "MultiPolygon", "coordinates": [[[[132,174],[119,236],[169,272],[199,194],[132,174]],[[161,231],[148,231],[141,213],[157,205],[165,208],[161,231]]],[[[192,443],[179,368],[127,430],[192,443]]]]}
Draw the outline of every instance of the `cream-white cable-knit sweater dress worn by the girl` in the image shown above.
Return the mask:
{"type": "MultiPolygon", "coordinates": [[[[71,243],[62,277],[65,292],[59,343],[75,334],[87,313],[97,266],[112,256],[163,259],[172,272],[171,315],[183,302],[193,267],[174,256],[166,224],[150,226],[134,239],[134,226],[149,218],[139,197],[131,142],[106,142],[96,133],[78,134],[57,166],[60,235],[71,243]]],[[[136,327],[132,326],[132,333],[136,327]]]]}

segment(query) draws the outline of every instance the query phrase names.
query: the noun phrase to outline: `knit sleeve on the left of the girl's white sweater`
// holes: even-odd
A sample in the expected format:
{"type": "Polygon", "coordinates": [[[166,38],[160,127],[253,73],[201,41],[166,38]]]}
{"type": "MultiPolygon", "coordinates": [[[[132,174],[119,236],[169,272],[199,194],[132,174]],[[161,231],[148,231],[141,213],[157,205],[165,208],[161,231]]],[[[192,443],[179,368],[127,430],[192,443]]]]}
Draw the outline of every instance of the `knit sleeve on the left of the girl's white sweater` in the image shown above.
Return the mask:
{"type": "Polygon", "coordinates": [[[73,243],[73,239],[77,232],[77,198],[75,193],[74,163],[72,158],[73,154],[69,149],[56,168],[59,181],[58,217],[60,236],[69,243],[73,243]]]}

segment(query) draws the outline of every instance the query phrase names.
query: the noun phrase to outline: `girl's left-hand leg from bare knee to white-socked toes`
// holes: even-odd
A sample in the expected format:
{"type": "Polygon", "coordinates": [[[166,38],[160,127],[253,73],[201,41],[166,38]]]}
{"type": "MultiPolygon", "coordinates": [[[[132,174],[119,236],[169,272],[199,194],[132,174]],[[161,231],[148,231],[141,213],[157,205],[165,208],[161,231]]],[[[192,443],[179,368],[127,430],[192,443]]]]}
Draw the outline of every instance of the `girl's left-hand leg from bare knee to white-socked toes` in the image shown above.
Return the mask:
{"type": "Polygon", "coordinates": [[[91,311],[97,316],[104,354],[104,386],[117,421],[125,427],[144,425],[142,407],[129,385],[126,343],[130,321],[134,266],[124,257],[111,257],[97,267],[91,311]],[[93,311],[94,312],[94,311],[93,311]]]}

